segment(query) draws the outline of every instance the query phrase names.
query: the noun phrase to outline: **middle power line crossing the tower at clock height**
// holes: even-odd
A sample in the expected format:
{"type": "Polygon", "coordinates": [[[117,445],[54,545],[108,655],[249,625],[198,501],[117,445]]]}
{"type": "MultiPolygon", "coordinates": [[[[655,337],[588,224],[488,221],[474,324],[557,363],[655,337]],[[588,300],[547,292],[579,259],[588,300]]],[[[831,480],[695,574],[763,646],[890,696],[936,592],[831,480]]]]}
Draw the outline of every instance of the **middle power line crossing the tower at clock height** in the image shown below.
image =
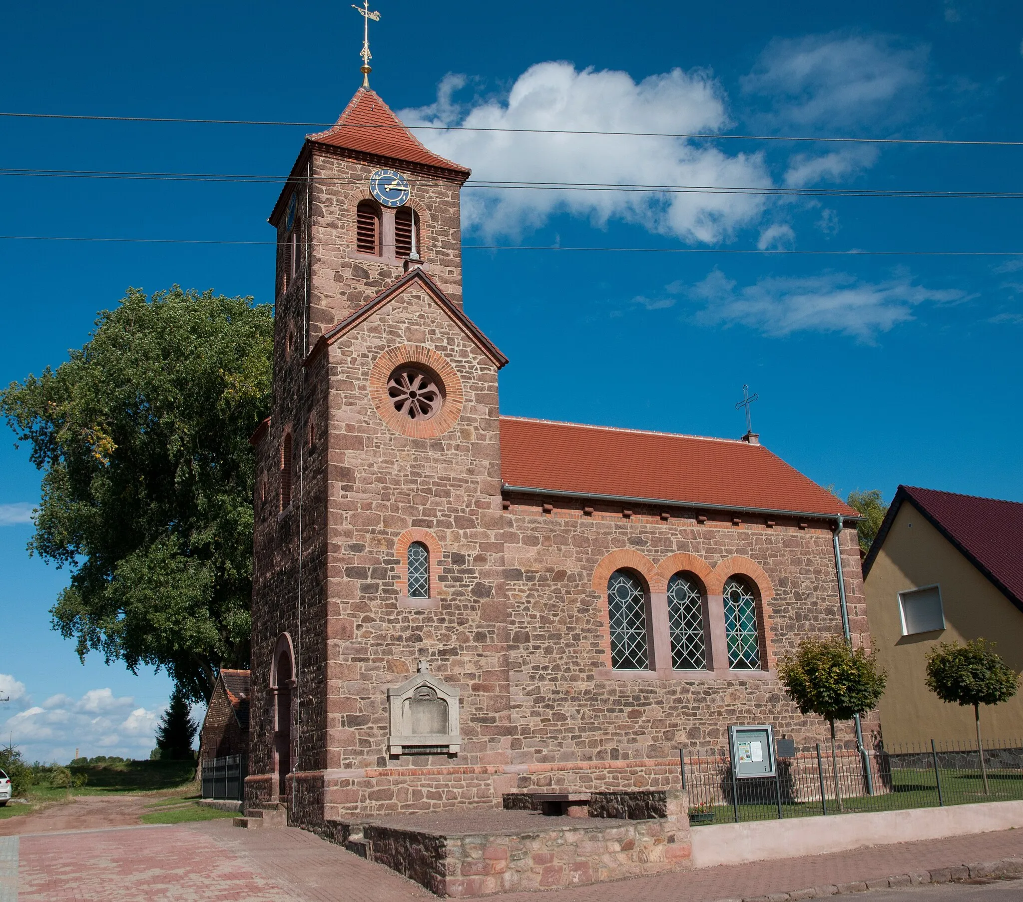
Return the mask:
{"type": "MultiPolygon", "coordinates": [[[[181,172],[133,172],[129,170],[62,170],[62,169],[13,169],[0,168],[0,176],[81,178],[81,179],[122,179],[128,181],[175,181],[175,182],[227,182],[237,184],[284,184],[288,181],[305,183],[304,178],[284,175],[259,175],[241,173],[181,173],[181,172]]],[[[362,184],[357,179],[313,178],[315,184],[362,184]]],[[[430,184],[430,179],[419,179],[430,184]]],[[[754,194],[766,196],[807,196],[807,197],[947,197],[974,199],[1020,199],[1023,191],[980,191],[972,189],[936,190],[930,188],[796,188],[786,186],[760,185],[646,185],[621,184],[615,182],[529,182],[502,181],[491,179],[470,179],[470,188],[493,190],[534,190],[534,191],[626,191],[640,193],[694,193],[694,194],[754,194]]]]}

